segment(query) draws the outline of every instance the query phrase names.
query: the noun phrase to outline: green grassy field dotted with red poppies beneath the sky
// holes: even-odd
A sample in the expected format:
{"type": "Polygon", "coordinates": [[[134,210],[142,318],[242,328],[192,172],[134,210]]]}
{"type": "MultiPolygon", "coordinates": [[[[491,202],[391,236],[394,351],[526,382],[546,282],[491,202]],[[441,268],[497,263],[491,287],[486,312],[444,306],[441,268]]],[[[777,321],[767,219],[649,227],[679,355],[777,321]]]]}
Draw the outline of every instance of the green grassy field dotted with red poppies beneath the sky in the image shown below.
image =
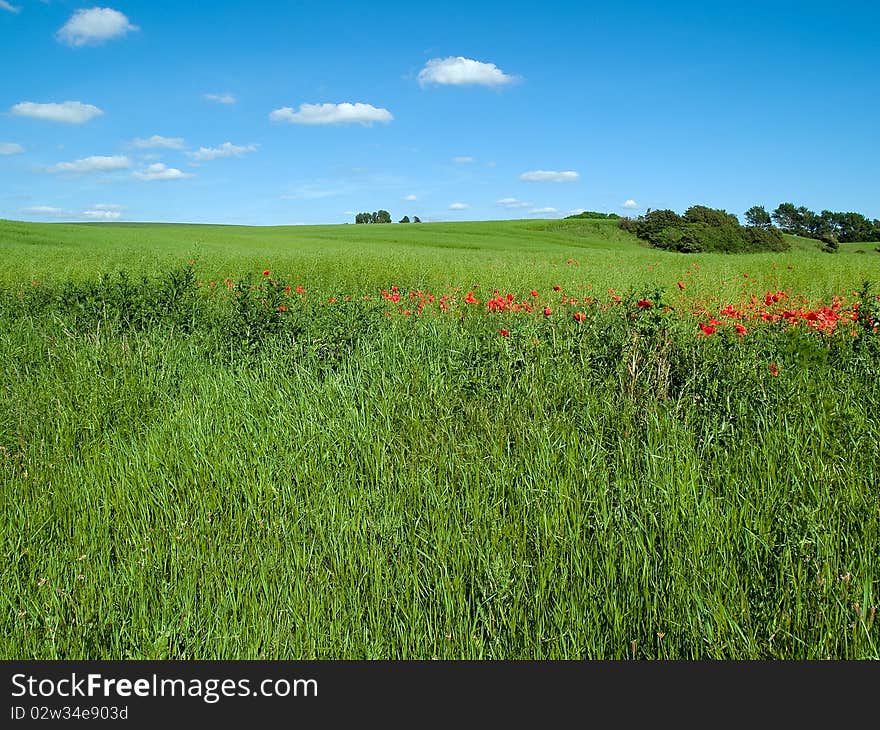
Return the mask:
{"type": "Polygon", "coordinates": [[[0,656],[880,658],[880,255],[792,242],[0,222],[0,656]]]}

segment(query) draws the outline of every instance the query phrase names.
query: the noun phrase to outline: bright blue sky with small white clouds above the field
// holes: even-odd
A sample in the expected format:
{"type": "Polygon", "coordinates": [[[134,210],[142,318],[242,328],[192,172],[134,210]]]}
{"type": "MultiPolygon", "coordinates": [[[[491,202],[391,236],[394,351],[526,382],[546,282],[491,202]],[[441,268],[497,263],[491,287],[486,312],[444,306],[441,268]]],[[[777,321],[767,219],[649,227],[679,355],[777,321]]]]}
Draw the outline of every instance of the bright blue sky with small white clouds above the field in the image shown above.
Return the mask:
{"type": "Polygon", "coordinates": [[[873,2],[0,0],[0,217],[880,218],[873,2]]]}

